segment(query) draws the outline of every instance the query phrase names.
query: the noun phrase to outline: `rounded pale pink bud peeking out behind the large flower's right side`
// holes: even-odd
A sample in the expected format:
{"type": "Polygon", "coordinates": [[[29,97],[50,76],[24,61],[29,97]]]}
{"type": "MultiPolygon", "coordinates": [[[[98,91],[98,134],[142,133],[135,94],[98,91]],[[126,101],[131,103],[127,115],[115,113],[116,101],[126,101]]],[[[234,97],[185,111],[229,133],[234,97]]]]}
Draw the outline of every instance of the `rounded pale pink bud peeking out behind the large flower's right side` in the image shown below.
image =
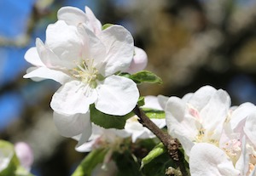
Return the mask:
{"type": "Polygon", "coordinates": [[[131,61],[131,65],[129,66],[126,72],[128,73],[136,73],[138,71],[143,71],[148,65],[148,56],[146,52],[142,48],[134,48],[135,55],[131,61]]]}

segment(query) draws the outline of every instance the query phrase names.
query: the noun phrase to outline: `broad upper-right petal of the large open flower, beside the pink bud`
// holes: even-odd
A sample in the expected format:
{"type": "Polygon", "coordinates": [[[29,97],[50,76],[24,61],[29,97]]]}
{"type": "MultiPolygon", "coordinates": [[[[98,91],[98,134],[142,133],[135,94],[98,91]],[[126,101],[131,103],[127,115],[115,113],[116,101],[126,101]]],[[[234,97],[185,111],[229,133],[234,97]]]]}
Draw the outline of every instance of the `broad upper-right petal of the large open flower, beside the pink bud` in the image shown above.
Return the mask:
{"type": "Polygon", "coordinates": [[[103,76],[107,77],[117,71],[126,71],[131,65],[134,44],[131,33],[123,26],[110,26],[98,37],[107,49],[106,63],[103,76]]]}

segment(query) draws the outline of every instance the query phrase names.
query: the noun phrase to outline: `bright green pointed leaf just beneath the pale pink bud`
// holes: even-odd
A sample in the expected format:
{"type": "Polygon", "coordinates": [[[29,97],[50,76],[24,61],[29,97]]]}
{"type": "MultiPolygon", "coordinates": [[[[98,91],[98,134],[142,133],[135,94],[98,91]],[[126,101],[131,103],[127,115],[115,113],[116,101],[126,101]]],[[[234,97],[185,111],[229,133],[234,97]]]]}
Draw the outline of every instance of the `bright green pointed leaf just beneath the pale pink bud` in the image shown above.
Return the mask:
{"type": "Polygon", "coordinates": [[[150,71],[139,71],[131,75],[130,78],[138,84],[143,82],[159,83],[159,84],[163,83],[160,77],[156,76],[153,72],[150,72],[150,71]]]}

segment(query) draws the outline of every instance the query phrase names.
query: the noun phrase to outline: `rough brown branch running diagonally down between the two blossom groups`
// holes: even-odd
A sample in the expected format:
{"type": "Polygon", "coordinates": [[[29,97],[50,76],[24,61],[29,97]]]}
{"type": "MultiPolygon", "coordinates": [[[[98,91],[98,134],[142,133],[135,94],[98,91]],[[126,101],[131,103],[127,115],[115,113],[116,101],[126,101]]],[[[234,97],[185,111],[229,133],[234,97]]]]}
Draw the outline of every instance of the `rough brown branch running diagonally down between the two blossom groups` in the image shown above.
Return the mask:
{"type": "Polygon", "coordinates": [[[133,111],[139,117],[138,121],[142,123],[144,127],[148,128],[152,133],[154,133],[166,146],[168,154],[172,157],[172,160],[175,162],[175,164],[180,168],[183,176],[187,176],[188,173],[184,167],[183,156],[178,150],[180,144],[177,139],[172,139],[168,133],[164,133],[138,106],[136,106],[133,111]]]}

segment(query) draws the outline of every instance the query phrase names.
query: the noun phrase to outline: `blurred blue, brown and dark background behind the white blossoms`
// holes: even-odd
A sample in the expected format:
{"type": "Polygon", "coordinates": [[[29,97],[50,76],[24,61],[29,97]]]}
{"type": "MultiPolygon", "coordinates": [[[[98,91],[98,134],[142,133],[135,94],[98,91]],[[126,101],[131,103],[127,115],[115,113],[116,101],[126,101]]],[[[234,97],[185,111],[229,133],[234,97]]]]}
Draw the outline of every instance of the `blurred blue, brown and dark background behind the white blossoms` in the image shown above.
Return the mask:
{"type": "Polygon", "coordinates": [[[49,102],[60,85],[23,79],[24,54],[45,40],[63,6],[89,6],[102,24],[125,26],[163,85],[141,94],[183,96],[204,85],[227,90],[232,105],[256,104],[256,2],[253,0],[0,0],[0,139],[32,146],[32,173],[70,175],[85,154],[61,137],[49,102]]]}

